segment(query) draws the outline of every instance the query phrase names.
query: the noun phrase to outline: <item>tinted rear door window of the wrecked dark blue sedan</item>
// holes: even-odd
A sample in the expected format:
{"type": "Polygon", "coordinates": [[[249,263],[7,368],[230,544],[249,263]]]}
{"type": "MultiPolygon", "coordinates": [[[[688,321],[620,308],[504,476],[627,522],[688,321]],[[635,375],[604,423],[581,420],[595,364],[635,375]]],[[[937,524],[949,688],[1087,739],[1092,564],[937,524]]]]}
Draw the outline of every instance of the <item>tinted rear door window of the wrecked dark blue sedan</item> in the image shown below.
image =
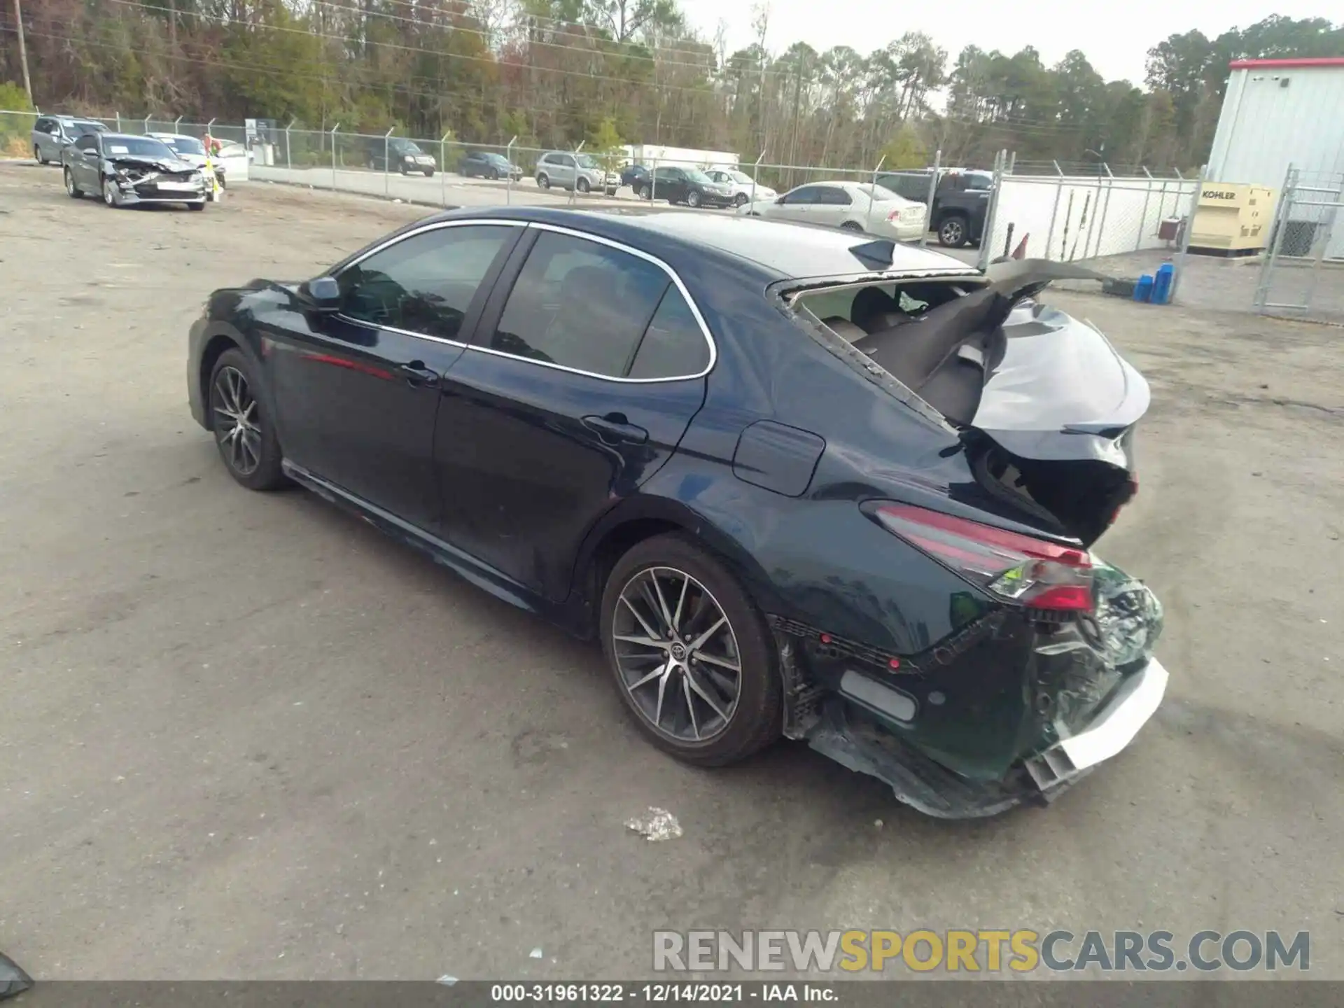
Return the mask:
{"type": "MultiPolygon", "coordinates": [[[[668,274],[648,259],[543,231],[513,284],[489,348],[590,375],[624,378],[669,286],[668,274]]],[[[664,317],[669,335],[650,344],[641,371],[656,371],[667,355],[676,355],[669,349],[680,343],[675,304],[664,317]]]]}

